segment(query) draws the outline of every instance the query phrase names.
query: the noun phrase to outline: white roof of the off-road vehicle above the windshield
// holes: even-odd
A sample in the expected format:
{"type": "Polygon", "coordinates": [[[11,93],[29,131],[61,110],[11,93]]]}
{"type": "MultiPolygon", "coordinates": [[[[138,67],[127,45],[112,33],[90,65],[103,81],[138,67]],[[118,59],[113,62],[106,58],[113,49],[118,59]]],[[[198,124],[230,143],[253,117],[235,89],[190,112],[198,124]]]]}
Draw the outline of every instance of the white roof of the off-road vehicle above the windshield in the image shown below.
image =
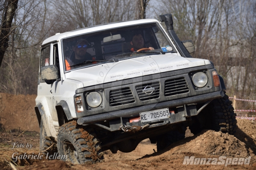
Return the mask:
{"type": "Polygon", "coordinates": [[[79,34],[85,34],[85,33],[89,33],[89,32],[106,30],[106,29],[117,28],[117,27],[122,27],[122,26],[131,26],[131,25],[142,24],[142,23],[156,23],[156,22],[159,23],[159,21],[155,20],[155,19],[142,19],[142,20],[120,21],[120,22],[116,22],[116,23],[106,23],[106,24],[97,25],[97,26],[80,28],[77,30],[64,32],[64,33],[49,37],[46,40],[44,40],[42,45],[48,44],[49,42],[60,41],[62,38],[72,37],[72,36],[79,35],[79,34]]]}

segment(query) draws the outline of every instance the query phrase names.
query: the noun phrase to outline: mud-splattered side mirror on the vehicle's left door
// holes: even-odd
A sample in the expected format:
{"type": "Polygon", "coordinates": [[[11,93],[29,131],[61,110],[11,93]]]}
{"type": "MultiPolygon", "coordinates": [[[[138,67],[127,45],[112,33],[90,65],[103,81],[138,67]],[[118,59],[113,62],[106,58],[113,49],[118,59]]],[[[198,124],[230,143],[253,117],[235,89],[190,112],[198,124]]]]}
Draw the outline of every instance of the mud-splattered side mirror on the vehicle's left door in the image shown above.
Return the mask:
{"type": "MultiPolygon", "coordinates": [[[[48,65],[41,67],[41,77],[47,82],[47,80],[56,80],[59,79],[59,71],[56,65],[48,65]]],[[[48,83],[47,83],[48,84],[48,83]]]]}

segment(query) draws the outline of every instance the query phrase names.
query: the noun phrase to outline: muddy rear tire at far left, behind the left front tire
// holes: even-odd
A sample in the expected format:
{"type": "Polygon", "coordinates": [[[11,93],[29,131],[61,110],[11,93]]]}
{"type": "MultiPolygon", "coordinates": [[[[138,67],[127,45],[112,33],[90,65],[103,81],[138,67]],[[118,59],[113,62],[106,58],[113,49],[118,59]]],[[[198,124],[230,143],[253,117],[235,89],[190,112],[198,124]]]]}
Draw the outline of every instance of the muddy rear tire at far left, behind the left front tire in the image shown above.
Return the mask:
{"type": "Polygon", "coordinates": [[[52,138],[51,136],[47,136],[47,134],[46,134],[42,119],[41,119],[41,123],[40,123],[40,146],[39,147],[40,147],[40,151],[45,150],[42,153],[45,155],[48,153],[48,156],[53,155],[54,153],[58,152],[54,138],[52,138]],[[53,144],[53,146],[52,146],[52,144],[53,144]],[[50,146],[52,146],[52,147],[50,147],[50,146]],[[49,149],[46,150],[47,148],[49,148],[49,149]]]}

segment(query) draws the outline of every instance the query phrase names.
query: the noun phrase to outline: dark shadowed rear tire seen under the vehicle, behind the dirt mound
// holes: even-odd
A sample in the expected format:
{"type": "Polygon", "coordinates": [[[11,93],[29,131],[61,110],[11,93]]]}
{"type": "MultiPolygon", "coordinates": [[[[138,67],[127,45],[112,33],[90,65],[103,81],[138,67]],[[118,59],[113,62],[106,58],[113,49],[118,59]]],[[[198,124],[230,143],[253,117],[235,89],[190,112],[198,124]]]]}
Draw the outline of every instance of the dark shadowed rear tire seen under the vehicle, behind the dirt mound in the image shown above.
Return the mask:
{"type": "Polygon", "coordinates": [[[157,136],[157,152],[168,147],[170,144],[185,138],[185,133],[170,131],[163,135],[157,136]]]}

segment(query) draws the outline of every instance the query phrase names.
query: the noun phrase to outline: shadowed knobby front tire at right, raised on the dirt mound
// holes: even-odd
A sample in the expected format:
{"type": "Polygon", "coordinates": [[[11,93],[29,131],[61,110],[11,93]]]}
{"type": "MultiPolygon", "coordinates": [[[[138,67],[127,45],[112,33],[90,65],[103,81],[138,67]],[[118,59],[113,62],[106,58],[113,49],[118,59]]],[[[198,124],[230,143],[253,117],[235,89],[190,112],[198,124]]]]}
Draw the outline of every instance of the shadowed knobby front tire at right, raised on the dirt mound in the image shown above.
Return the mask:
{"type": "MultiPolygon", "coordinates": [[[[226,94],[222,98],[212,100],[199,114],[204,116],[204,129],[221,131],[230,135],[236,133],[236,113],[234,113],[232,101],[228,99],[226,94]]],[[[199,133],[203,128],[199,122],[189,126],[193,134],[199,133]]]]}

